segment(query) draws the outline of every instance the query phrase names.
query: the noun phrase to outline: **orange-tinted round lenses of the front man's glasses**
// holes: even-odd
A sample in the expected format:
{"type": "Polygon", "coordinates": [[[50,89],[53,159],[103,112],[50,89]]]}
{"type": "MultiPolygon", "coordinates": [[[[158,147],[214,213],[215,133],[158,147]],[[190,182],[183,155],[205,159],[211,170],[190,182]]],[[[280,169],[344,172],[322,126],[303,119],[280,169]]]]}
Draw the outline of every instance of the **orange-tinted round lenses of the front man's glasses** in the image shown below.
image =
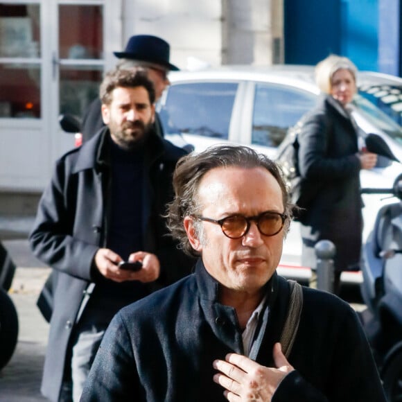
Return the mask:
{"type": "MultiPolygon", "coordinates": [[[[222,220],[222,231],[230,238],[240,238],[250,228],[250,220],[250,218],[247,219],[241,215],[228,216],[222,220]]],[[[283,219],[279,213],[265,212],[256,217],[255,220],[259,231],[265,236],[274,236],[283,227],[283,219]]]]}

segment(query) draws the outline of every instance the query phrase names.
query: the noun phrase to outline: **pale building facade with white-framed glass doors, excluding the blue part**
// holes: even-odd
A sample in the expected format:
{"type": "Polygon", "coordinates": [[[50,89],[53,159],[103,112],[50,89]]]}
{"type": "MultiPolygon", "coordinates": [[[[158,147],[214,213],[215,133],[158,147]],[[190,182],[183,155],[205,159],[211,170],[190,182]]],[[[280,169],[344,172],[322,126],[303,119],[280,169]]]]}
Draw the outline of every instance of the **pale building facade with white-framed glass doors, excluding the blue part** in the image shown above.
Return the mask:
{"type": "Polygon", "coordinates": [[[74,144],[58,116],[82,115],[131,35],[166,39],[181,69],[270,64],[281,61],[280,1],[0,1],[0,195],[42,192],[74,144]]]}

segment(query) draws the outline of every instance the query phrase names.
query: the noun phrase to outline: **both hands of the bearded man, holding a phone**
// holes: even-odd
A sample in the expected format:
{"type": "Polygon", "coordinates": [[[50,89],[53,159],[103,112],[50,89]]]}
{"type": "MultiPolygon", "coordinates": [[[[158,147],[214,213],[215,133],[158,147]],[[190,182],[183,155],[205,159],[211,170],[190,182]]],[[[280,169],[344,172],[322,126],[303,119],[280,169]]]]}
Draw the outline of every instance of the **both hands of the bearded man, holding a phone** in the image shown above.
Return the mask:
{"type": "Polygon", "coordinates": [[[116,282],[141,281],[152,282],[158,279],[160,273],[159,259],[155,254],[135,252],[130,254],[128,261],[141,261],[142,268],[137,272],[121,270],[118,264],[123,261],[119,254],[107,248],[99,249],[95,254],[95,265],[100,274],[116,282]]]}

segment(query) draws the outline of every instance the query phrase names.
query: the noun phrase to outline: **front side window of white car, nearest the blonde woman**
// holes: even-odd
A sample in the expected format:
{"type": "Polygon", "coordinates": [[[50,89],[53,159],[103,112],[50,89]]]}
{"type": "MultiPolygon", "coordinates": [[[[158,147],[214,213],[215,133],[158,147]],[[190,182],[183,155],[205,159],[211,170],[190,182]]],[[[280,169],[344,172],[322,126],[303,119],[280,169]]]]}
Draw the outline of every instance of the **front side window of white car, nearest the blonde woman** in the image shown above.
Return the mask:
{"type": "Polygon", "coordinates": [[[252,143],[277,147],[286,131],[311,110],[317,96],[285,85],[257,83],[254,96],[252,143]]]}

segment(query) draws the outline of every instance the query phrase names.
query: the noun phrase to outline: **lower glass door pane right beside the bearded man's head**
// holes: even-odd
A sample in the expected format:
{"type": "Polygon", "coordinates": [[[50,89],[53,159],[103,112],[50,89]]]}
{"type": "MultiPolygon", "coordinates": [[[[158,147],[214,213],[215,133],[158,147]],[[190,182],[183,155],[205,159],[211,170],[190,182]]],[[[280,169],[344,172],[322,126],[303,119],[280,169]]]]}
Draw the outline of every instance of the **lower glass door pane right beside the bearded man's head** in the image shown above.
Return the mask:
{"type": "Polygon", "coordinates": [[[82,116],[99,94],[102,67],[60,66],[60,113],[82,116]]]}

